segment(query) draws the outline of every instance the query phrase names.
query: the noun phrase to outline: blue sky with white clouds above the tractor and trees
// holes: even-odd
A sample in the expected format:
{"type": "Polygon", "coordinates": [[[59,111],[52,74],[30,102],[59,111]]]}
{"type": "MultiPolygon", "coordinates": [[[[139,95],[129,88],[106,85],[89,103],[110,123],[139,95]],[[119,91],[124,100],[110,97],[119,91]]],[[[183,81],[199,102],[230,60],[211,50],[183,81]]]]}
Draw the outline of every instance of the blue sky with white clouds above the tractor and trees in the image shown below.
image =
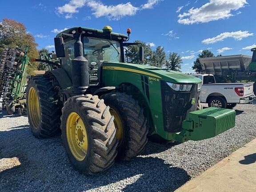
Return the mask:
{"type": "Polygon", "coordinates": [[[56,32],[64,28],[132,29],[131,41],[164,46],[183,58],[182,71],[192,72],[200,50],[215,55],[252,55],[256,47],[256,0],[23,0],[2,1],[0,20],[23,23],[38,48],[52,50],[56,32]]]}

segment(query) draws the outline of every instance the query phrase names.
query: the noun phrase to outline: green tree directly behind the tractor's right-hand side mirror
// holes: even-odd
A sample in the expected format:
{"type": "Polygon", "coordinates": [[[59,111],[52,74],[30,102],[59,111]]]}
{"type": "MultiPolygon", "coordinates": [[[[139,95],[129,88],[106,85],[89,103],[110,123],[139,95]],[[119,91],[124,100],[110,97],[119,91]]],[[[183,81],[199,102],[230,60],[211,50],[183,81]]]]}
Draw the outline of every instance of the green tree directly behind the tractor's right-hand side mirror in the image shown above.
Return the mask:
{"type": "Polygon", "coordinates": [[[151,59],[153,56],[153,51],[150,48],[150,46],[140,40],[136,40],[135,43],[141,43],[142,46],[144,47],[144,62],[142,63],[140,61],[140,45],[131,45],[127,48],[127,53],[126,55],[128,56],[128,63],[133,63],[133,64],[146,64],[147,59],[151,59]]]}

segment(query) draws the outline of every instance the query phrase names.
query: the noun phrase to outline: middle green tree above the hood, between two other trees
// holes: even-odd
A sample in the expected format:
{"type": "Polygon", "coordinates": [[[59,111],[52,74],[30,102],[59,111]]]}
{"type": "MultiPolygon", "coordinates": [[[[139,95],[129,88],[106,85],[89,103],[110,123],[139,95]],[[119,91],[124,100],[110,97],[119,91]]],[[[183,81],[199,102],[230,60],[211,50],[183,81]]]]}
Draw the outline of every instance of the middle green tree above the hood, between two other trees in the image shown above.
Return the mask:
{"type": "Polygon", "coordinates": [[[153,57],[150,65],[156,67],[162,67],[166,64],[166,54],[164,52],[164,47],[158,46],[155,51],[153,51],[153,57]]]}

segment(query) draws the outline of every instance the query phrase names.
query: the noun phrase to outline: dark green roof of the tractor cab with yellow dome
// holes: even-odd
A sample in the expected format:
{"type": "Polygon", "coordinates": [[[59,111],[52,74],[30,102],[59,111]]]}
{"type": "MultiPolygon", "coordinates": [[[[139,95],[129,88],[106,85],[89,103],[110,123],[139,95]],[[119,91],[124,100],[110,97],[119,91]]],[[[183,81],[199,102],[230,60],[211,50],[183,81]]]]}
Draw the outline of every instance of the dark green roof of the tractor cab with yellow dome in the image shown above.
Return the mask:
{"type": "MultiPolygon", "coordinates": [[[[69,28],[69,29],[57,34],[56,37],[60,37],[61,33],[74,34],[77,31],[77,28],[78,27],[69,28]]],[[[117,40],[117,41],[126,41],[128,39],[127,35],[112,32],[112,28],[109,26],[105,26],[102,30],[93,29],[93,28],[85,28],[85,27],[82,27],[82,29],[85,32],[84,36],[111,39],[111,40],[117,40]]],[[[65,38],[67,38],[67,36],[63,36],[63,38],[65,39],[65,38]]]]}

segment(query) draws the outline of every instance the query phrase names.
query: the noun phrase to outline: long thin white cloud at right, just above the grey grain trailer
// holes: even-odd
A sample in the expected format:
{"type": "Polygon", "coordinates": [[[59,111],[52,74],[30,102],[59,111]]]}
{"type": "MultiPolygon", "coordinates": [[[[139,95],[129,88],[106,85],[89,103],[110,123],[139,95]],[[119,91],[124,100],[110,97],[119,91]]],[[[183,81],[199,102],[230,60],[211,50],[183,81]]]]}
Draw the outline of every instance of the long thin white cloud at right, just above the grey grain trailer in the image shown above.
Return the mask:
{"type": "Polygon", "coordinates": [[[232,37],[235,40],[242,40],[248,36],[252,36],[253,33],[249,33],[248,31],[237,31],[237,32],[224,32],[221,33],[218,36],[212,37],[212,38],[208,38],[202,41],[202,43],[204,44],[213,44],[216,43],[218,41],[223,41],[224,39],[228,38],[228,37],[232,37]]]}

